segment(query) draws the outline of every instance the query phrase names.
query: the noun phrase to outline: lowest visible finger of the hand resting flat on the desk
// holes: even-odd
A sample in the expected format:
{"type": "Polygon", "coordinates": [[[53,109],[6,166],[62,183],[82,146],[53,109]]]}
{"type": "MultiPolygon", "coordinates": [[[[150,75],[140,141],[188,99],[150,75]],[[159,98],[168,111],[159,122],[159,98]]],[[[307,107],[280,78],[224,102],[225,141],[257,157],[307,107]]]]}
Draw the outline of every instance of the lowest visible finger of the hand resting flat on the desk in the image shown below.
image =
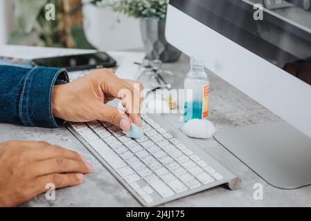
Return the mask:
{"type": "Polygon", "coordinates": [[[56,189],[64,188],[67,186],[76,186],[81,184],[85,180],[85,176],[82,173],[53,173],[37,177],[36,184],[38,186],[37,194],[48,191],[50,186],[47,184],[54,184],[56,189]]]}

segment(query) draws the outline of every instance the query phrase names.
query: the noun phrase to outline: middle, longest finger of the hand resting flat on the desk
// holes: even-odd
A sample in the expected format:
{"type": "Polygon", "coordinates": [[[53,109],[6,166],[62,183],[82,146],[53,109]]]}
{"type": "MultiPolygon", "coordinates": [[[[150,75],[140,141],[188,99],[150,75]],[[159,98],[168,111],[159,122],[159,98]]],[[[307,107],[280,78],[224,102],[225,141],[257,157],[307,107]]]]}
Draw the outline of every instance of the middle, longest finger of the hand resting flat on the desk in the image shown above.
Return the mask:
{"type": "Polygon", "coordinates": [[[28,170],[36,177],[39,177],[52,173],[90,173],[92,166],[87,162],[56,157],[35,162],[28,170]]]}

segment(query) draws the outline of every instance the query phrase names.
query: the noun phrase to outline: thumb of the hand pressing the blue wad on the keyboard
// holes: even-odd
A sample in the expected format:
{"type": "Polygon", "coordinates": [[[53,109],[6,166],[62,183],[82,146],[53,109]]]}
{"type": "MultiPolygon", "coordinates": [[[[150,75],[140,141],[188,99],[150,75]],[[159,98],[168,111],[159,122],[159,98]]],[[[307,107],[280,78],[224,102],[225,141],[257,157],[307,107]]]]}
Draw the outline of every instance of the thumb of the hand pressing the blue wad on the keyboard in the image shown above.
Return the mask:
{"type": "Polygon", "coordinates": [[[118,110],[118,108],[101,104],[98,110],[100,110],[100,120],[114,124],[120,127],[123,131],[130,131],[130,118],[125,113],[118,110]]]}

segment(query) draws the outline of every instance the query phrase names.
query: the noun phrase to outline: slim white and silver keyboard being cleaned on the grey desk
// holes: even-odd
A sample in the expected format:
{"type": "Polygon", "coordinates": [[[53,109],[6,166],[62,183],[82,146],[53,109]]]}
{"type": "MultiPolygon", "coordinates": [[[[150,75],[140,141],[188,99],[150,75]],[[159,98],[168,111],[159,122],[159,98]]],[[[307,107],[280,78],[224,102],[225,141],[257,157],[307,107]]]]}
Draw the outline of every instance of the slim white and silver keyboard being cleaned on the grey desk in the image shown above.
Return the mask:
{"type": "Polygon", "coordinates": [[[168,125],[142,115],[144,137],[131,139],[107,122],[68,123],[69,130],[145,206],[156,206],[240,179],[168,125]]]}

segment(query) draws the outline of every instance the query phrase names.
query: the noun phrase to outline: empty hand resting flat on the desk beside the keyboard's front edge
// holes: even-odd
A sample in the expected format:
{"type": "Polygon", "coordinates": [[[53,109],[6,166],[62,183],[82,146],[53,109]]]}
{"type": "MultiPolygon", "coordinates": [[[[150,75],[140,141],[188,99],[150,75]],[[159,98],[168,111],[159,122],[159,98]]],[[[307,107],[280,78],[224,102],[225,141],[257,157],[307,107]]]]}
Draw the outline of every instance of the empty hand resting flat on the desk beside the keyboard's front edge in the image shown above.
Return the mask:
{"type": "Polygon", "coordinates": [[[73,151],[46,142],[0,144],[0,206],[17,206],[55,188],[81,184],[91,164],[73,151]]]}

